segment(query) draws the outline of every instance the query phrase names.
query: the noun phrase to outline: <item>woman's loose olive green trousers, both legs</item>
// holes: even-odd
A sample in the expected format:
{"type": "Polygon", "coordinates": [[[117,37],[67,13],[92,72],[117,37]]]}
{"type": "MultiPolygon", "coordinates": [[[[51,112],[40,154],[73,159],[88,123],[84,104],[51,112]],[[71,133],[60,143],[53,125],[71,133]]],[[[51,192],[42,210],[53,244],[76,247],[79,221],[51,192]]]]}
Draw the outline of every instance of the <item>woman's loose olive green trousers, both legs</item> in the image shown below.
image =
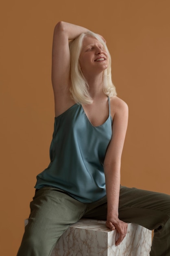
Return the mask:
{"type": "MultiPolygon", "coordinates": [[[[70,224],[82,217],[106,220],[107,216],[106,197],[84,204],[52,187],[38,190],[30,208],[17,256],[50,256],[70,224]]],[[[170,195],[120,186],[119,218],[154,229],[150,256],[170,256],[170,195]]]]}

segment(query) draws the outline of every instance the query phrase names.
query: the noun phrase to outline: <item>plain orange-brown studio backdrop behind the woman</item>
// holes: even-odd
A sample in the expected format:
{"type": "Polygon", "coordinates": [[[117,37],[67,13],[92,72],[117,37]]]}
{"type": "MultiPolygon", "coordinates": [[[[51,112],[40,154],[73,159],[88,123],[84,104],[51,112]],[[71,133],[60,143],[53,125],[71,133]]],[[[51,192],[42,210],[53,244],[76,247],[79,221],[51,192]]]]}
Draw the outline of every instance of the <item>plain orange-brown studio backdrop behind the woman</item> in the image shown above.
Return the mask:
{"type": "Polygon", "coordinates": [[[16,255],[35,177],[49,163],[51,45],[59,20],[88,27],[107,40],[113,82],[129,105],[121,183],[170,193],[169,10],[169,0],[4,1],[0,255],[16,255]]]}

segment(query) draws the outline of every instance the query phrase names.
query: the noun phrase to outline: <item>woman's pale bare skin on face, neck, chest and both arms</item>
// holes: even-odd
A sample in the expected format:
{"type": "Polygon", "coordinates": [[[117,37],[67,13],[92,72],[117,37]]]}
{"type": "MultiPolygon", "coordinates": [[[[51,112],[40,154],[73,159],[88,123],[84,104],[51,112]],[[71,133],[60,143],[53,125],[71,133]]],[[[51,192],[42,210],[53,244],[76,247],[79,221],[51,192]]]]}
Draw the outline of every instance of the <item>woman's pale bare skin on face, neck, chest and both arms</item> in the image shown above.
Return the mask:
{"type": "MultiPolygon", "coordinates": [[[[52,47],[52,86],[54,90],[55,116],[61,115],[75,102],[70,97],[70,51],[68,40],[75,39],[88,29],[67,22],[57,23],[54,29],[52,47]]],[[[108,118],[108,98],[102,90],[102,73],[108,66],[107,52],[96,39],[86,36],[79,57],[81,70],[89,84],[93,103],[82,105],[93,126],[103,124],[108,118]],[[100,60],[99,60],[100,59],[100,60]]],[[[121,155],[128,123],[128,107],[124,101],[114,96],[110,98],[113,119],[112,138],[104,162],[107,192],[106,226],[116,229],[119,245],[127,232],[127,223],[118,218],[120,192],[121,155]]]]}

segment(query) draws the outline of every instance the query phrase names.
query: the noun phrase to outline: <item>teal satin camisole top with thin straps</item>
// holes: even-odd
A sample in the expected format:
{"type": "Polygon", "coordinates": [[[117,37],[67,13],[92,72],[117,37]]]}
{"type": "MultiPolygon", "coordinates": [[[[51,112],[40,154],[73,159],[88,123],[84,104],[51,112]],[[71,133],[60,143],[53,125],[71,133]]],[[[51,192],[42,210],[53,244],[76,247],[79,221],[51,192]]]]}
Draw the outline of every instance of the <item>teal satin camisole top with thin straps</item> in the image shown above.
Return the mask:
{"type": "Polygon", "coordinates": [[[113,122],[109,97],[108,102],[109,116],[100,126],[93,126],[78,104],[55,117],[50,164],[37,175],[36,189],[56,187],[84,203],[106,195],[103,163],[113,122]]]}

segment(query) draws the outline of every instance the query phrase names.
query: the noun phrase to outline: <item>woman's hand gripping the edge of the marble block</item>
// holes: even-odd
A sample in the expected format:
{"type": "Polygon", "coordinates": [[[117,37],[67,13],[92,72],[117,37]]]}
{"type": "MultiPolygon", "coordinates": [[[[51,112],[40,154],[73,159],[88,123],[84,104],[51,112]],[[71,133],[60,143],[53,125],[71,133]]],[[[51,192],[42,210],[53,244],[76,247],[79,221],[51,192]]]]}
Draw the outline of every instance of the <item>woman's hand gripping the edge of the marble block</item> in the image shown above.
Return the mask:
{"type": "Polygon", "coordinates": [[[116,241],[116,246],[120,245],[122,240],[125,238],[127,233],[128,225],[126,222],[123,222],[122,220],[116,219],[107,219],[106,221],[106,227],[108,227],[111,230],[117,230],[119,233],[118,240],[116,241]]]}

